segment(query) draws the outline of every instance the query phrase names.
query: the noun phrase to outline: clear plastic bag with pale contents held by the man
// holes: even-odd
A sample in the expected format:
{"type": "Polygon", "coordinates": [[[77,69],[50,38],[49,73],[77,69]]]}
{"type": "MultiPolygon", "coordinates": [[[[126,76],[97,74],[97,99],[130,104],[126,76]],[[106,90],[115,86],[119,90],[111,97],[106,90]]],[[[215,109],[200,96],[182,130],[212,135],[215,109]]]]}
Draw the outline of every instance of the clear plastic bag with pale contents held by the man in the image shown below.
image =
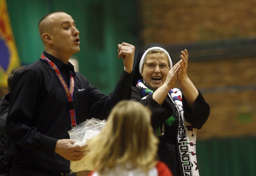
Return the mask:
{"type": "MultiPolygon", "coordinates": [[[[72,140],[75,140],[73,145],[85,145],[87,139],[91,139],[97,136],[100,131],[105,127],[106,120],[99,120],[92,118],[86,120],[81,124],[77,125],[75,128],[72,128],[68,131],[69,137],[72,140]]],[[[89,146],[88,146],[89,147],[89,146]]],[[[88,148],[90,150],[90,148],[88,148]]],[[[84,170],[93,170],[93,166],[90,160],[90,152],[82,158],[80,161],[70,161],[70,169],[72,172],[84,171],[84,170]]]]}

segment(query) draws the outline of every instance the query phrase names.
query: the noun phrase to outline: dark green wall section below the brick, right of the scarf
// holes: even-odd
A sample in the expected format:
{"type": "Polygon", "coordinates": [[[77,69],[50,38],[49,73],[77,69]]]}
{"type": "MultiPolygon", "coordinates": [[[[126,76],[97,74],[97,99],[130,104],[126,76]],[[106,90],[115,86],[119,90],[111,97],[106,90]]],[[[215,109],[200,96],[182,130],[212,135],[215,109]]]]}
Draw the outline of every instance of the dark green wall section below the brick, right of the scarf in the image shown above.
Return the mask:
{"type": "Polygon", "coordinates": [[[256,175],[256,137],[197,140],[200,176],[256,175]]]}

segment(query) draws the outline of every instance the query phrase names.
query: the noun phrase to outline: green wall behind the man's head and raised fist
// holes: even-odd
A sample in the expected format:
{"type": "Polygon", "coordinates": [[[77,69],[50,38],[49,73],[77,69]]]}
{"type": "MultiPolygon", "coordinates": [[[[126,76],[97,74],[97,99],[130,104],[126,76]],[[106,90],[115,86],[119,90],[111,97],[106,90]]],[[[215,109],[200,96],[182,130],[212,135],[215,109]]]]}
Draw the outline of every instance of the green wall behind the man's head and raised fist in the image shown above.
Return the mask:
{"type": "Polygon", "coordinates": [[[39,59],[44,50],[39,20],[54,11],[70,14],[80,31],[80,52],[74,55],[79,60],[79,72],[105,94],[114,90],[123,70],[117,45],[138,45],[135,0],[7,0],[7,5],[23,65],[39,59]]]}

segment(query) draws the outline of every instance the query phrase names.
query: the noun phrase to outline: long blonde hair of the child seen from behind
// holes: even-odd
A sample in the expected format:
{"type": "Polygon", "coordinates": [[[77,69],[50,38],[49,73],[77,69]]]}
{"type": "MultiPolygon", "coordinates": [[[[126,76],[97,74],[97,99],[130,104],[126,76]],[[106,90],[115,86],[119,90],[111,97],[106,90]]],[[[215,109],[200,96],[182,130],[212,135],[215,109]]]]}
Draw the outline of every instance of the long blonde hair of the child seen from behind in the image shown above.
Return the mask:
{"type": "Polygon", "coordinates": [[[89,141],[100,174],[114,166],[150,170],[156,164],[158,138],[151,127],[151,111],[139,102],[123,100],[112,109],[106,127],[89,141]]]}

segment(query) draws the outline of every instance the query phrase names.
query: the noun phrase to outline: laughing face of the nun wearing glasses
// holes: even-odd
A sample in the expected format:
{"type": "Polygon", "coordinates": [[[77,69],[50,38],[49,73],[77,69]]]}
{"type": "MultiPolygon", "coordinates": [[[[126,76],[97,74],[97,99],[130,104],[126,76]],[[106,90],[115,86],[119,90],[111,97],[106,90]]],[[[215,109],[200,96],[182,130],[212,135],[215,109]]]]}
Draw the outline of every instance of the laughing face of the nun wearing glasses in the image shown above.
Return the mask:
{"type": "Polygon", "coordinates": [[[165,53],[150,53],[145,58],[142,68],[142,77],[149,88],[156,90],[163,85],[167,78],[168,72],[169,62],[165,53]]]}

